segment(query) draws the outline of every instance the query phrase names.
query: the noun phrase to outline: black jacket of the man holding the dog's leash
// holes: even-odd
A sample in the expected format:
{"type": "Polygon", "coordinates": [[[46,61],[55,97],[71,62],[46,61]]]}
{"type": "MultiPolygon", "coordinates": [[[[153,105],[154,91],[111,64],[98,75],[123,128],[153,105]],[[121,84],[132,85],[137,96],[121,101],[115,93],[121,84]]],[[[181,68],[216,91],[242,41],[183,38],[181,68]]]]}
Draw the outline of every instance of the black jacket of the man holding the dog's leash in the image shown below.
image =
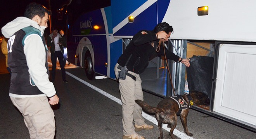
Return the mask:
{"type": "MultiPolygon", "coordinates": [[[[139,31],[133,39],[126,47],[124,53],[119,57],[118,64],[120,66],[125,66],[126,61],[131,56],[128,64],[126,65],[129,71],[134,73],[142,73],[145,68],[147,68],[149,58],[156,54],[156,47],[158,45],[159,39],[156,37],[156,32],[154,31],[139,31]],[[142,32],[146,32],[147,34],[142,34],[142,32]]],[[[179,56],[174,53],[168,51],[165,48],[166,58],[178,61],[179,56]]],[[[164,56],[163,46],[160,47],[159,53],[164,56]]]]}

